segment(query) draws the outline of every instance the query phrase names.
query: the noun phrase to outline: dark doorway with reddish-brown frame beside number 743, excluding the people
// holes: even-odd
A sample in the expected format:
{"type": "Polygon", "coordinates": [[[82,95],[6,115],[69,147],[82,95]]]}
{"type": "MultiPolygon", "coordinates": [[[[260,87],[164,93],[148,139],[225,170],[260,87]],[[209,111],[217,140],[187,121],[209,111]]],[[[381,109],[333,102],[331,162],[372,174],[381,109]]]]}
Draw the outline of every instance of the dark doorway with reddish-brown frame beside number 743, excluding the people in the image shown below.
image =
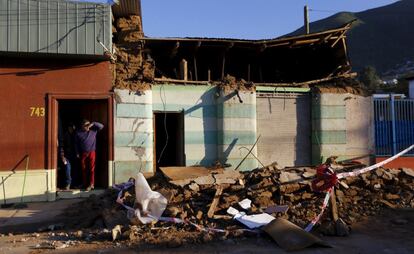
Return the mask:
{"type": "MultiPolygon", "coordinates": [[[[107,188],[111,185],[109,162],[113,160],[112,95],[49,95],[48,105],[48,168],[57,169],[57,189],[65,186],[65,170],[59,170],[62,163],[57,144],[61,142],[69,125],[74,124],[79,128],[83,119],[104,125],[96,136],[95,188],[107,188]]],[[[76,154],[73,160],[72,187],[82,183],[80,161],[76,154]]]]}

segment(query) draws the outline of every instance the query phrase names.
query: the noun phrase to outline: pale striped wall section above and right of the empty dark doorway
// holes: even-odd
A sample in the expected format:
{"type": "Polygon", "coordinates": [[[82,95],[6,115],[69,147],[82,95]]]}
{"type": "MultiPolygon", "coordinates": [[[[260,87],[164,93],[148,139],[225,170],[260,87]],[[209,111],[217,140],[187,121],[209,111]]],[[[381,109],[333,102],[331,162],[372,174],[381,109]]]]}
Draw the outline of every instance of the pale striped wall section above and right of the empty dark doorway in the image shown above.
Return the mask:
{"type": "Polygon", "coordinates": [[[186,165],[210,166],[217,160],[216,87],[154,85],[153,110],[184,112],[186,165]]]}

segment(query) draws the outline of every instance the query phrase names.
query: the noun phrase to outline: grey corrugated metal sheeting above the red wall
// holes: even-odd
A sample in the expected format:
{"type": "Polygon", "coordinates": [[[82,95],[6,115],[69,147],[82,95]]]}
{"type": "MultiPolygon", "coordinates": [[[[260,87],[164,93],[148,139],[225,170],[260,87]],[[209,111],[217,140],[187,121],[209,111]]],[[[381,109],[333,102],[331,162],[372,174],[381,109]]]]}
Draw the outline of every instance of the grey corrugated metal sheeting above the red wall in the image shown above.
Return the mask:
{"type": "Polygon", "coordinates": [[[112,47],[109,5],[66,0],[0,0],[0,52],[104,54],[112,47]]]}

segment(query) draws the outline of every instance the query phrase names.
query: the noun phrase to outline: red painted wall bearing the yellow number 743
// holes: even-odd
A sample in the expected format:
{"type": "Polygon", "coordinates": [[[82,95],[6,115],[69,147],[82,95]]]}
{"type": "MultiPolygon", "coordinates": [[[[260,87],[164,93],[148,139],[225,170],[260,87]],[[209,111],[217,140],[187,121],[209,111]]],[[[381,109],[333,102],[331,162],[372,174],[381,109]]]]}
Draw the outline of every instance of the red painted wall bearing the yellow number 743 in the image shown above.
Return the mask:
{"type": "Polygon", "coordinates": [[[102,94],[111,86],[108,61],[2,57],[0,170],[24,169],[26,154],[30,169],[47,167],[48,93],[102,94]]]}

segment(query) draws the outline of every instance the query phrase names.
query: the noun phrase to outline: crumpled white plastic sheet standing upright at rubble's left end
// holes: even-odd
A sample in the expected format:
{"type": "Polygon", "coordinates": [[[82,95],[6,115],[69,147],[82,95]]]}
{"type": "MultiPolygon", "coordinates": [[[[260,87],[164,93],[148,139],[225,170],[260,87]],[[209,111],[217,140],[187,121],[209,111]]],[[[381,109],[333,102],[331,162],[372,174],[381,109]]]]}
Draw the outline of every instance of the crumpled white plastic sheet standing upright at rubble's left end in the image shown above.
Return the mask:
{"type": "Polygon", "coordinates": [[[167,207],[167,199],[161,193],[152,191],[142,173],[135,180],[135,196],[141,209],[135,210],[135,215],[144,224],[158,221],[167,207]]]}

